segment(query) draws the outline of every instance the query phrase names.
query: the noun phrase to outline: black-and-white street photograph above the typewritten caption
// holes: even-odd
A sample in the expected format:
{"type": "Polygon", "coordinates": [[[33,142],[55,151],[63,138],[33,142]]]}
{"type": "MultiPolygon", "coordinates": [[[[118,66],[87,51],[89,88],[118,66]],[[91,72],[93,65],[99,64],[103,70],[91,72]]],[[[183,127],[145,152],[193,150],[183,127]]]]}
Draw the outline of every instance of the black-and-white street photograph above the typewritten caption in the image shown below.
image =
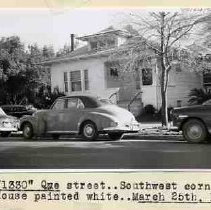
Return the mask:
{"type": "Polygon", "coordinates": [[[210,169],[211,11],[0,10],[0,169],[210,169]]]}

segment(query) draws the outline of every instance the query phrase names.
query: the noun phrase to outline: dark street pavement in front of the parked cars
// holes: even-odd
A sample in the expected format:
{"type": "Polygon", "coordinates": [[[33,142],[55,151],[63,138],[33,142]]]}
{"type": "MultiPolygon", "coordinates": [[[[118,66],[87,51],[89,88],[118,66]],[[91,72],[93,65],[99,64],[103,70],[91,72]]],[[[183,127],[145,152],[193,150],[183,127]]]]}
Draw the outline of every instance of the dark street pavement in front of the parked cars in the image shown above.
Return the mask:
{"type": "Polygon", "coordinates": [[[210,169],[211,144],[181,139],[0,138],[0,169],[210,169]]]}

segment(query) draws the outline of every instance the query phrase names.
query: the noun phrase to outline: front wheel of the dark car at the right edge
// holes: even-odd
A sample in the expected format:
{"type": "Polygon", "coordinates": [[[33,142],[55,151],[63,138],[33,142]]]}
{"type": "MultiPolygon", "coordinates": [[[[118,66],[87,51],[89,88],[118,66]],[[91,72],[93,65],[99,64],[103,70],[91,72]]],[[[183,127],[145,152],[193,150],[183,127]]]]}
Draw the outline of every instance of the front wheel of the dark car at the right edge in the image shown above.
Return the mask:
{"type": "Polygon", "coordinates": [[[189,143],[201,143],[207,138],[208,132],[203,122],[197,119],[188,120],[182,126],[183,137],[189,143]]]}

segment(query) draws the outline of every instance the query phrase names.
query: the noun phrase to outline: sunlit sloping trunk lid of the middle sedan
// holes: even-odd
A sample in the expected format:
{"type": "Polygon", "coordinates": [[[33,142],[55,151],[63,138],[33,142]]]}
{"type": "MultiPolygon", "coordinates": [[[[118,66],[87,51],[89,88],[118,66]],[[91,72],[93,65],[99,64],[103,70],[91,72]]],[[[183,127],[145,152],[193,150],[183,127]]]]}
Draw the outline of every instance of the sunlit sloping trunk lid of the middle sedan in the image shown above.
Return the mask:
{"type": "Polygon", "coordinates": [[[135,120],[135,117],[131,112],[116,105],[104,105],[97,108],[95,112],[108,114],[123,121],[135,120]]]}

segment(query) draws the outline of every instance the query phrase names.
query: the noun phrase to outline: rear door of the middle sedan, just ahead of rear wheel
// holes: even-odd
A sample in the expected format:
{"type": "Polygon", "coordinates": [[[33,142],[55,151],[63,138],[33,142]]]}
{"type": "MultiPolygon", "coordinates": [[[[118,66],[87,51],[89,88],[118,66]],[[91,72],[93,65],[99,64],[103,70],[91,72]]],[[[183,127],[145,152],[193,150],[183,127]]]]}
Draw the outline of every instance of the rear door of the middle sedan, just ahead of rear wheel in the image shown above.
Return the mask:
{"type": "Polygon", "coordinates": [[[78,122],[83,114],[84,105],[77,97],[67,98],[65,102],[64,127],[68,132],[78,131],[78,122]]]}

